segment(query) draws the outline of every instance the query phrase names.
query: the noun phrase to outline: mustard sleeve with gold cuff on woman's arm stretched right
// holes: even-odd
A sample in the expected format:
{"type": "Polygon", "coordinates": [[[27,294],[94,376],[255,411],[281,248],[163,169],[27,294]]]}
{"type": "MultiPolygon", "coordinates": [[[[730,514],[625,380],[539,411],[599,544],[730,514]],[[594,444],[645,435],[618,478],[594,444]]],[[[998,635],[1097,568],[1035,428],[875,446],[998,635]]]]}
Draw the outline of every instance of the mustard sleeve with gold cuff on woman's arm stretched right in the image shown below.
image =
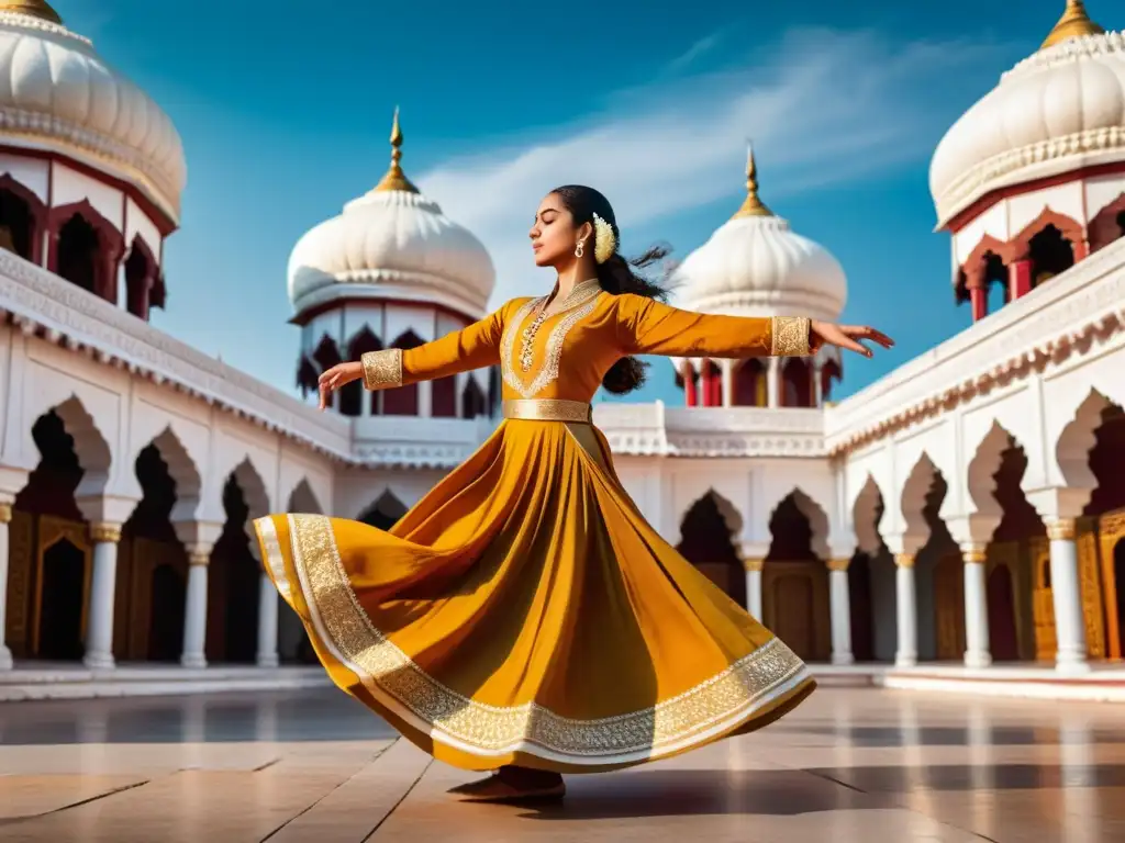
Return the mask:
{"type": "Polygon", "coordinates": [[[669,357],[801,357],[809,354],[809,319],[720,316],[618,296],[618,343],[626,354],[669,357]]]}

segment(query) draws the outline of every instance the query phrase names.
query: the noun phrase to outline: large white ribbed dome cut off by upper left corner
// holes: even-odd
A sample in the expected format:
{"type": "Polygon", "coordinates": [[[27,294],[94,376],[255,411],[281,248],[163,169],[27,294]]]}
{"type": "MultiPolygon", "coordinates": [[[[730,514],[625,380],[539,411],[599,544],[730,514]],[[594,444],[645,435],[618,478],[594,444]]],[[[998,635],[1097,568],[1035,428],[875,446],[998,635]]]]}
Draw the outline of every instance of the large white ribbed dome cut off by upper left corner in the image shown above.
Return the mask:
{"type": "Polygon", "coordinates": [[[187,166],[172,121],[55,19],[39,0],[0,3],[0,135],[129,182],[178,220],[187,166]]]}

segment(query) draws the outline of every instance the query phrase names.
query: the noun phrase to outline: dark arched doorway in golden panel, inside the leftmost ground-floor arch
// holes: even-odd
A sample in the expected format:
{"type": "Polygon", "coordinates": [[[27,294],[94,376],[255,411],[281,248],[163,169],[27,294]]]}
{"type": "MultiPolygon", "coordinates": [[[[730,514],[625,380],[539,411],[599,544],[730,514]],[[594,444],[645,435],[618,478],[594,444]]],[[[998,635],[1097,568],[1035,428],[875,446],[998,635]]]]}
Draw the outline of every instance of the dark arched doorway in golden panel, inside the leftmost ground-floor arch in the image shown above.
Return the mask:
{"type": "Polygon", "coordinates": [[[88,527],[39,516],[32,651],[38,658],[81,658],[90,595],[88,527]]]}

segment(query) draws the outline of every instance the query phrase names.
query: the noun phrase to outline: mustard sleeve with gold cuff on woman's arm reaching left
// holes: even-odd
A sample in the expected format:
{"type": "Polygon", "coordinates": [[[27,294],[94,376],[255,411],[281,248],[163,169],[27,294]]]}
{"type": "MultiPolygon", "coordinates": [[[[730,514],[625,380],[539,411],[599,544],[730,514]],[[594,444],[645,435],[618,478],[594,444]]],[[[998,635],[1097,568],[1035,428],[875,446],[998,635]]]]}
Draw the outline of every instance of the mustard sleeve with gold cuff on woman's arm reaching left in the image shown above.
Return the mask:
{"type": "Polygon", "coordinates": [[[414,348],[367,352],[360,357],[363,386],[390,389],[500,363],[506,309],[507,305],[480,321],[414,348]]]}

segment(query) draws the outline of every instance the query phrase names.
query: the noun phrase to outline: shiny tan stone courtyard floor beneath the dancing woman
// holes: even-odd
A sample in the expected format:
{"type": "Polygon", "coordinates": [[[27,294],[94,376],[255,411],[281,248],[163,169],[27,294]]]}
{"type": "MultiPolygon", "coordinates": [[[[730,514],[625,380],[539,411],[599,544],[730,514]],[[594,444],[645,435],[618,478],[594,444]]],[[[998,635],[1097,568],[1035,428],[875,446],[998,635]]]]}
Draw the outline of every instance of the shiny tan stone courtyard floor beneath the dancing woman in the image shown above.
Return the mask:
{"type": "Polygon", "coordinates": [[[821,689],[754,735],[466,805],[344,695],[0,705],[0,841],[1125,843],[1125,708],[821,689]]]}

